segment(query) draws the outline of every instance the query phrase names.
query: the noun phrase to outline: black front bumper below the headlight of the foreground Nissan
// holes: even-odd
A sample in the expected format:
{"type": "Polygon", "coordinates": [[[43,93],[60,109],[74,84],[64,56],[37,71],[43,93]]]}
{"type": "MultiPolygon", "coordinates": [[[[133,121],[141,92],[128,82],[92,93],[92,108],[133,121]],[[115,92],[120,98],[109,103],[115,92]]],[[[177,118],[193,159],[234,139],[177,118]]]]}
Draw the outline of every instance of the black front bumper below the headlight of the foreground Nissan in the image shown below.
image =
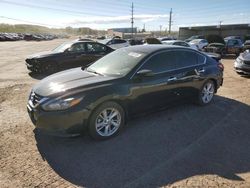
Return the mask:
{"type": "Polygon", "coordinates": [[[43,111],[27,104],[27,111],[37,129],[54,135],[74,135],[87,126],[90,111],[73,107],[64,111],[43,111]]]}

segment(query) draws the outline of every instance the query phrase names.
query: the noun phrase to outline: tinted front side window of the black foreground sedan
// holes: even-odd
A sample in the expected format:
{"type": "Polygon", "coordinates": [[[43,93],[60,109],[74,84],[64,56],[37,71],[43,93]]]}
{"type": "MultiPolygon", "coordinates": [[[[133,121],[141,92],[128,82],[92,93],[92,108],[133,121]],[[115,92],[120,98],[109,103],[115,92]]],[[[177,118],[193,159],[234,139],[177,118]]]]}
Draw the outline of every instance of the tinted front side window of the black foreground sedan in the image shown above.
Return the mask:
{"type": "Polygon", "coordinates": [[[162,52],[151,57],[141,69],[152,70],[154,73],[166,72],[176,68],[175,52],[162,52]]]}

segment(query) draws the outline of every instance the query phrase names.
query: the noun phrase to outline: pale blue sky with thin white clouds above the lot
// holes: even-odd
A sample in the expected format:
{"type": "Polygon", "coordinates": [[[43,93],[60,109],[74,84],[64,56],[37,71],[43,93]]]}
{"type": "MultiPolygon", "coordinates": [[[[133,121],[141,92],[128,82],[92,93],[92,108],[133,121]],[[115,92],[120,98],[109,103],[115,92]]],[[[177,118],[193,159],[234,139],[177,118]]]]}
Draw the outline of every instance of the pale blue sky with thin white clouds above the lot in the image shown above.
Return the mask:
{"type": "Polygon", "coordinates": [[[33,24],[53,28],[134,27],[148,31],[201,25],[249,24],[249,0],[0,0],[0,23],[33,24]]]}

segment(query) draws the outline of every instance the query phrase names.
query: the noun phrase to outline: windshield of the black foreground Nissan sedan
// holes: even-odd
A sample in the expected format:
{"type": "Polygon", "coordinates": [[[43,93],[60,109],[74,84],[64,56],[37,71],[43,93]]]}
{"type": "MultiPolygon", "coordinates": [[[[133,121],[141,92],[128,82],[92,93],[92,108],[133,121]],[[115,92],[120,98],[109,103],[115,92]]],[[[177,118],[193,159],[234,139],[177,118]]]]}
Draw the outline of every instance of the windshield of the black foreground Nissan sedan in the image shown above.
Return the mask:
{"type": "Polygon", "coordinates": [[[101,75],[122,77],[128,74],[145,56],[145,53],[122,48],[97,60],[85,70],[101,75]]]}

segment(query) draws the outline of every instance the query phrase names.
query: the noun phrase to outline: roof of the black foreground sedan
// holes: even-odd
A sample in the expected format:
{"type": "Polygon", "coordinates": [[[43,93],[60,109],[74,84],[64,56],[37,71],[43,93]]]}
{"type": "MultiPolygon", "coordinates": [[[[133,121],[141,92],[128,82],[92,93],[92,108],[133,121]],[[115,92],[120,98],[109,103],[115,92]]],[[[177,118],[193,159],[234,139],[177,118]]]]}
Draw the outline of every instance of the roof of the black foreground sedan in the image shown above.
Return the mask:
{"type": "Polygon", "coordinates": [[[190,49],[182,46],[173,46],[173,45],[162,45],[162,44],[149,44],[149,45],[135,45],[126,47],[128,51],[142,52],[145,54],[151,54],[161,50],[167,49],[190,49]]]}

